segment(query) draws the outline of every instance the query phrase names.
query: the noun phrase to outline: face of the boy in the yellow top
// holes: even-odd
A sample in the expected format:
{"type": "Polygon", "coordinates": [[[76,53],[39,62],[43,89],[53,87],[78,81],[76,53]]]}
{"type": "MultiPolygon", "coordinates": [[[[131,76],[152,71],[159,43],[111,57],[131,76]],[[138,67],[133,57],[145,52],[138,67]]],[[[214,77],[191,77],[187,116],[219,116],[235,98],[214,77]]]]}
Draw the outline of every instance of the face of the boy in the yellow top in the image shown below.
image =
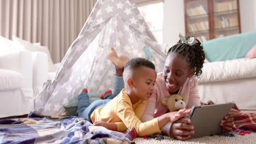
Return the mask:
{"type": "Polygon", "coordinates": [[[132,79],[132,93],[135,94],[138,99],[148,100],[154,91],[156,76],[156,71],[152,68],[141,67],[136,70],[134,79],[132,79]]]}

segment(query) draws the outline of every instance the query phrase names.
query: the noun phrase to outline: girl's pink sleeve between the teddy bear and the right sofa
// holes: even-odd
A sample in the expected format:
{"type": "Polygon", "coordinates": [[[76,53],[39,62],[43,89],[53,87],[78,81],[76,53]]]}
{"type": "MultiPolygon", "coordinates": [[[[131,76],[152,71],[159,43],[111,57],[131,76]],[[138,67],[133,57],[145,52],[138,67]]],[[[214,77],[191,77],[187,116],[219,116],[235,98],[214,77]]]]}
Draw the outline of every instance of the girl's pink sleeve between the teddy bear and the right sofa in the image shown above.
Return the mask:
{"type": "Polygon", "coordinates": [[[188,102],[187,108],[191,108],[194,105],[201,105],[197,85],[198,85],[198,82],[194,77],[194,79],[191,79],[191,82],[189,84],[190,91],[189,91],[189,102],[188,102]]]}

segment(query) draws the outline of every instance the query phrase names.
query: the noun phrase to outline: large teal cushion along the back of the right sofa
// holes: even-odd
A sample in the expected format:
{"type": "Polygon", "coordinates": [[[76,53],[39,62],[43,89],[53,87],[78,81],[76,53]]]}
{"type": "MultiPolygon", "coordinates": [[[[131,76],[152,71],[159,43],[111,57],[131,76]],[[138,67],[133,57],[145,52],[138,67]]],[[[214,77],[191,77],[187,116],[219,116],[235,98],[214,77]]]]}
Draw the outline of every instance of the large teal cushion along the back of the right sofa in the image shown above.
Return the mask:
{"type": "Polygon", "coordinates": [[[209,62],[227,61],[244,58],[247,52],[256,45],[255,38],[256,31],[208,40],[202,43],[202,46],[209,62]]]}

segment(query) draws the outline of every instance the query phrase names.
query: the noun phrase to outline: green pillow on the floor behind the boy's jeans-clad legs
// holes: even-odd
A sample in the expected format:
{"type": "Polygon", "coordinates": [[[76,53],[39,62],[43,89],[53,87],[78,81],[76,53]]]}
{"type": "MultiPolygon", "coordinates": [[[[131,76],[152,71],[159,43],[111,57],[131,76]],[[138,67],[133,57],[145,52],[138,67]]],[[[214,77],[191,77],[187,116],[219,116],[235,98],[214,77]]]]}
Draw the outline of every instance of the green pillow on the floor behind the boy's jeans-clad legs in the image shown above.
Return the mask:
{"type": "MultiPolygon", "coordinates": [[[[97,93],[89,93],[89,103],[91,104],[93,101],[101,99],[101,94],[97,93]]],[[[77,106],[78,106],[78,96],[73,97],[69,100],[68,104],[64,106],[64,109],[70,116],[77,116],[77,106]]]]}

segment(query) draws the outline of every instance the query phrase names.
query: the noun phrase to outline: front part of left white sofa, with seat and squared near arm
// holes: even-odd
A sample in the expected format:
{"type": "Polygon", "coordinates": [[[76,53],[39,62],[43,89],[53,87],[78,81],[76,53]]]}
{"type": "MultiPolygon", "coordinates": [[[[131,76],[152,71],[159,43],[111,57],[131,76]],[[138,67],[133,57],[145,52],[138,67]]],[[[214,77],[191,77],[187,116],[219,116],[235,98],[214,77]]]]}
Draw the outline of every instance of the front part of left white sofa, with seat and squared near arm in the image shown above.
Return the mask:
{"type": "Polygon", "coordinates": [[[29,51],[0,56],[0,117],[25,115],[34,110],[31,59],[29,51]]]}

